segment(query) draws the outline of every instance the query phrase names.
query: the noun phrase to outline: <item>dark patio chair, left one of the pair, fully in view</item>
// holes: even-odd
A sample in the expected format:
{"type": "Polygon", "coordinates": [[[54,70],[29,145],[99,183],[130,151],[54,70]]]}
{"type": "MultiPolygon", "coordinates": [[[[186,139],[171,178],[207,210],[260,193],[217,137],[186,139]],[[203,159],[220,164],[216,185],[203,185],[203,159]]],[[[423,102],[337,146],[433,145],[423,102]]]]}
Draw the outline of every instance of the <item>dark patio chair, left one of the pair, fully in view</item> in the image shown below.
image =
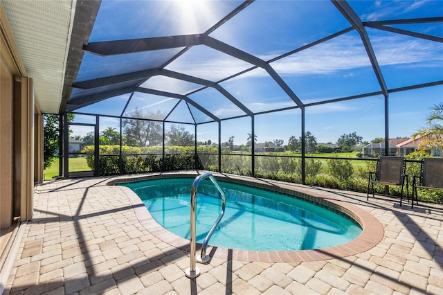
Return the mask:
{"type": "Polygon", "coordinates": [[[380,156],[377,159],[377,168],[374,172],[368,172],[368,195],[366,200],[369,200],[369,190],[372,188],[372,197],[374,197],[374,184],[384,184],[385,186],[401,186],[401,197],[403,196],[403,187],[406,178],[406,192],[408,193],[408,181],[406,170],[406,159],[404,157],[389,157],[380,156]]]}

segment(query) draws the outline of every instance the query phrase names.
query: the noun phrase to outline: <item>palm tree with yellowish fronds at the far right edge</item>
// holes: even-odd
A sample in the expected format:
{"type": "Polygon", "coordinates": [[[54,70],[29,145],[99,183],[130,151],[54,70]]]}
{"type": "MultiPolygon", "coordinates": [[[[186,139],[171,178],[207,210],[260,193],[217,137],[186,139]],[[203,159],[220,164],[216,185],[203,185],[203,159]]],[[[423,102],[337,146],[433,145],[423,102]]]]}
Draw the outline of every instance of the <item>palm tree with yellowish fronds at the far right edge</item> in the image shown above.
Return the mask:
{"type": "Polygon", "coordinates": [[[440,124],[440,122],[443,123],[443,102],[433,106],[426,121],[428,126],[419,129],[419,132],[414,134],[414,141],[422,138],[417,150],[443,148],[443,126],[440,124]]]}

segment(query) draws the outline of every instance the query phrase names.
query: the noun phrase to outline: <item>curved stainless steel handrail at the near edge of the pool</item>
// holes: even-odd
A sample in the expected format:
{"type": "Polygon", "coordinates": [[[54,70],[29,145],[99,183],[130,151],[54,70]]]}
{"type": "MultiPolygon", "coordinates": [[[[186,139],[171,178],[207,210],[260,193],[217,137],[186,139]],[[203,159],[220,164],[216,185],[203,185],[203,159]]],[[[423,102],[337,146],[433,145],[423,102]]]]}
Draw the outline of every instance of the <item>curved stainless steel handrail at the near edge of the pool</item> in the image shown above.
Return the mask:
{"type": "Polygon", "coordinates": [[[210,257],[209,255],[206,255],[206,248],[208,247],[208,242],[210,237],[213,235],[215,229],[217,229],[217,226],[219,225],[219,222],[221,220],[221,217],[224,215],[224,208],[226,206],[226,198],[224,195],[223,190],[219,186],[218,182],[215,180],[214,176],[211,172],[206,172],[203,175],[199,175],[195,178],[194,182],[192,183],[191,188],[191,212],[190,212],[190,267],[188,267],[185,270],[185,274],[188,278],[196,278],[200,275],[200,269],[196,267],[197,261],[200,263],[206,263],[209,261],[210,257]],[[219,191],[221,198],[222,198],[222,205],[221,205],[221,211],[219,214],[219,217],[217,217],[217,220],[215,220],[213,227],[208,232],[208,235],[206,235],[205,240],[203,241],[203,244],[201,246],[201,253],[199,256],[196,257],[195,255],[195,207],[197,204],[197,190],[199,188],[200,181],[204,179],[210,179],[210,181],[213,182],[215,188],[219,191]]]}

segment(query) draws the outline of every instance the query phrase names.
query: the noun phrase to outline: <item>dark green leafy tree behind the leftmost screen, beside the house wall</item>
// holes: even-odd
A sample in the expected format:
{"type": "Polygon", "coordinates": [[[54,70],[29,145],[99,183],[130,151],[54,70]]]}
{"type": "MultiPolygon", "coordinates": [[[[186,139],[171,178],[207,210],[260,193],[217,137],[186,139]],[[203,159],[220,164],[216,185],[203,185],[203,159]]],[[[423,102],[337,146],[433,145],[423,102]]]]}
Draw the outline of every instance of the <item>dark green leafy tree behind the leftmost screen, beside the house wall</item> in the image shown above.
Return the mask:
{"type": "MultiPolygon", "coordinates": [[[[68,123],[71,123],[75,118],[74,114],[67,114],[68,123]]],[[[43,168],[46,169],[51,166],[55,157],[58,156],[59,141],[60,141],[60,123],[59,115],[44,114],[43,115],[43,168]]],[[[71,131],[68,131],[71,133],[71,131]]]]}

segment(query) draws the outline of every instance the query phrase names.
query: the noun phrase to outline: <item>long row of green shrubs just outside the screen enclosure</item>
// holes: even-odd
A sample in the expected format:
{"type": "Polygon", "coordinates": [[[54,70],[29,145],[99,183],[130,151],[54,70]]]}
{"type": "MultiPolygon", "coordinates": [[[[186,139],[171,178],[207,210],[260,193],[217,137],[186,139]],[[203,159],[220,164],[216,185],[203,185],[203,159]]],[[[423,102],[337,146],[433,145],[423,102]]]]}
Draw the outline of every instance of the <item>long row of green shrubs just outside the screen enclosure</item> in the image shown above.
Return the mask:
{"type": "MultiPolygon", "coordinates": [[[[91,147],[87,147],[91,148],[91,147]]],[[[93,150],[93,147],[91,151],[93,150]]],[[[161,157],[158,147],[127,147],[123,146],[120,171],[120,146],[100,146],[99,173],[100,175],[134,174],[142,172],[160,172],[172,170],[204,169],[218,171],[219,156],[216,147],[197,147],[197,163],[193,147],[165,147],[169,153],[161,157]],[[141,154],[145,153],[145,154],[141,154]],[[113,155],[114,154],[114,155],[113,155]],[[137,155],[132,155],[137,154],[137,155]]],[[[422,159],[429,157],[424,152],[408,155],[407,159],[422,159]]],[[[93,155],[87,156],[89,168],[94,168],[93,155]]],[[[354,174],[352,163],[344,159],[327,159],[327,169],[322,171],[322,161],[305,159],[305,183],[311,186],[353,190],[365,193],[368,189],[368,171],[375,170],[376,161],[365,161],[365,166],[358,166],[354,174]]],[[[252,157],[248,154],[222,154],[221,172],[235,175],[253,175],[252,157]]],[[[275,179],[293,183],[301,183],[301,159],[295,157],[255,157],[255,177],[275,179]]],[[[407,175],[419,175],[419,163],[406,165],[407,175]]],[[[406,190],[406,188],[405,188],[406,190]]],[[[383,195],[385,186],[374,185],[374,192],[383,195]]],[[[405,192],[406,193],[406,192],[405,192]]],[[[398,187],[390,186],[389,194],[400,195],[398,187]]],[[[409,188],[412,195],[412,186],[409,188]]],[[[419,190],[419,200],[426,202],[443,203],[443,192],[439,190],[419,190]]]]}

